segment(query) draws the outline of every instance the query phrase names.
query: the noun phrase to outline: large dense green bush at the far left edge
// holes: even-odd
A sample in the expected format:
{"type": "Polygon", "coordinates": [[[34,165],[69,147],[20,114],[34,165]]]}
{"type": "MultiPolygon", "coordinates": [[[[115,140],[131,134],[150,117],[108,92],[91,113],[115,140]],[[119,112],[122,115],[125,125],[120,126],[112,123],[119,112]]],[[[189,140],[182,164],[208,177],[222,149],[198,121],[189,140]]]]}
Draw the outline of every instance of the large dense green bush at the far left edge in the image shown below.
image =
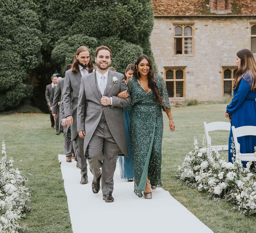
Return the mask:
{"type": "Polygon", "coordinates": [[[40,22],[32,8],[32,1],[0,1],[0,112],[32,95],[26,71],[42,62],[40,22]]]}

